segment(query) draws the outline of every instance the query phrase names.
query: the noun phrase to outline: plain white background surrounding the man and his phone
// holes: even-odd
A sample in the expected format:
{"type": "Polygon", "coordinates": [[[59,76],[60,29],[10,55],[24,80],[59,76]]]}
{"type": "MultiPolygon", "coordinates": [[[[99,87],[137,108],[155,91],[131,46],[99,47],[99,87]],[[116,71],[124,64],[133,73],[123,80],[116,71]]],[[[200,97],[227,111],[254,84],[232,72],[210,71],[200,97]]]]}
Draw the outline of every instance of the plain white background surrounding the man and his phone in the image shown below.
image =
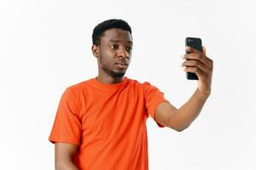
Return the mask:
{"type": "Polygon", "coordinates": [[[0,168],[54,169],[48,141],[61,94],[97,75],[99,22],[126,20],[134,41],[126,77],[151,82],[180,107],[195,92],[180,64],[185,37],[214,61],[212,95],[181,133],[148,119],[149,169],[256,169],[255,1],[1,0],[0,168]]]}

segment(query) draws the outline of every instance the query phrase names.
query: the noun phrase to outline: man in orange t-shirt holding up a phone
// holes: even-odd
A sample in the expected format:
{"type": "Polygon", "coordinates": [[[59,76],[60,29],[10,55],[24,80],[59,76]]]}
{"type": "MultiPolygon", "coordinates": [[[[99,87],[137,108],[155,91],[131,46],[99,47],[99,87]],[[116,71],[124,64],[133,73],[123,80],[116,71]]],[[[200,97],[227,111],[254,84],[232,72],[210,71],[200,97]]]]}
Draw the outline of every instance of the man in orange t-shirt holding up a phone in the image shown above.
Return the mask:
{"type": "Polygon", "coordinates": [[[146,121],[177,131],[189,127],[211,93],[212,59],[186,47],[184,71],[198,77],[195,94],[177,109],[149,82],[125,77],[131,60],[131,27],[106,20],[95,27],[92,53],[98,76],[68,87],[61,96],[49,140],[55,169],[148,169],[146,121]]]}

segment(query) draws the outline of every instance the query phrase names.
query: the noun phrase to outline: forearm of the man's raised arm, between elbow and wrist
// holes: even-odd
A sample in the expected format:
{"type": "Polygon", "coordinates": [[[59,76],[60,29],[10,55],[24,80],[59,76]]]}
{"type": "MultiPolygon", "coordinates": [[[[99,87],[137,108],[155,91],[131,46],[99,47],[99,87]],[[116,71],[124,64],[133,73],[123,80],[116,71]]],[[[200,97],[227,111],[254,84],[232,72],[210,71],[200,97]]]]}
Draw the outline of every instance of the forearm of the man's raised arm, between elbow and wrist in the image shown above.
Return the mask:
{"type": "Polygon", "coordinates": [[[177,110],[174,119],[177,123],[177,131],[182,131],[189,127],[191,122],[200,114],[201,108],[205,104],[209,94],[201,94],[197,89],[195,94],[177,110]]]}

